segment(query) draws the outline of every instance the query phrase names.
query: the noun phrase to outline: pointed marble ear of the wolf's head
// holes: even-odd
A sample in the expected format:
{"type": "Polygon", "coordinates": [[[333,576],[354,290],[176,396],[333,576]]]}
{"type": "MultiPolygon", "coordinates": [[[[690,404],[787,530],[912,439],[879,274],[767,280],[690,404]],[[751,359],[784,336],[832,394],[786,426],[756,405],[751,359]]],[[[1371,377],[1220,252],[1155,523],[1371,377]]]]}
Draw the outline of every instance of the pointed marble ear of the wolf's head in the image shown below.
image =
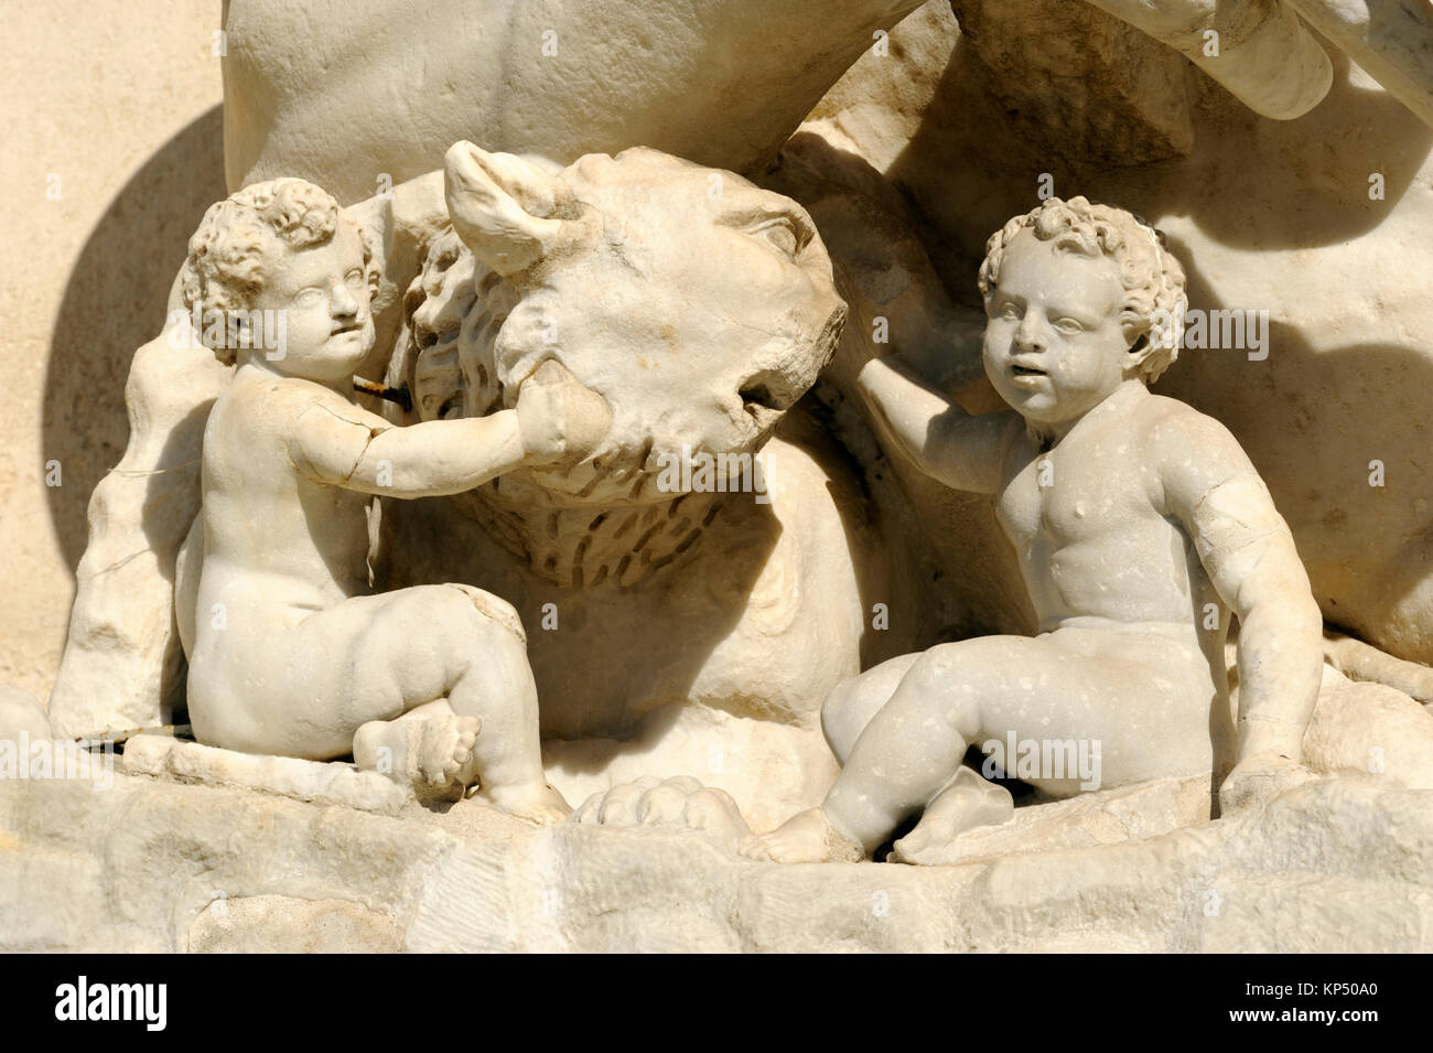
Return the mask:
{"type": "Polygon", "coordinates": [[[504,278],[565,251],[590,229],[562,176],[512,153],[456,142],[443,158],[443,175],[453,229],[504,278]]]}

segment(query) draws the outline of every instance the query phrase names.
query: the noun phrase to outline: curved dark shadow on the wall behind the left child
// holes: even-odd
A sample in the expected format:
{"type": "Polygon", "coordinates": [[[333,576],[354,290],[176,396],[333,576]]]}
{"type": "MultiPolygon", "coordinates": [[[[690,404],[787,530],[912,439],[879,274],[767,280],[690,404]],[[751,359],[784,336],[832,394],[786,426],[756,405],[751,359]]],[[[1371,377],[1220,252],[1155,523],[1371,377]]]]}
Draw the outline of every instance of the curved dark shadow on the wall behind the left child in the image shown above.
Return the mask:
{"type": "Polygon", "coordinates": [[[203,211],[225,196],[215,106],[165,143],[115,196],[70,271],[44,377],[42,441],[63,486],[47,490],[70,570],[85,552],[95,484],[125,453],[125,378],[163,327],[165,304],[203,211]]]}

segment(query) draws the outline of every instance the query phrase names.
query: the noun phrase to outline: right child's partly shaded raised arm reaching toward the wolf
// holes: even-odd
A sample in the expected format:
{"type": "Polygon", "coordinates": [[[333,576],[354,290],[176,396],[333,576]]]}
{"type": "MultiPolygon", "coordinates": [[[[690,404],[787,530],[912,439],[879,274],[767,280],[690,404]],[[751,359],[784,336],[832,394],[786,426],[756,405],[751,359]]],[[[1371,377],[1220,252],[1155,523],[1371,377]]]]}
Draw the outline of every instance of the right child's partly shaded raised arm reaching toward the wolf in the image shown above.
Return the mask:
{"type": "Polygon", "coordinates": [[[857,378],[866,400],[896,441],[931,479],[953,490],[996,493],[1016,413],[972,417],[897,368],[896,354],[873,358],[857,378]]]}

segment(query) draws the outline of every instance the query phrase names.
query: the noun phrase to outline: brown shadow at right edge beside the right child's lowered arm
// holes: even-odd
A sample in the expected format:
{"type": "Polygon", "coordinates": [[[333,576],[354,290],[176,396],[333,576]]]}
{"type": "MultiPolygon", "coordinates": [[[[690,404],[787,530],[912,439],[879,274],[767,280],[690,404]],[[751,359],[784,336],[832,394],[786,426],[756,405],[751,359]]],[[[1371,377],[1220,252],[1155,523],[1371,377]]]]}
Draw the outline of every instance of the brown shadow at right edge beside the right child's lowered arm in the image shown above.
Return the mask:
{"type": "MultiPolygon", "coordinates": [[[[1189,249],[1171,238],[1184,259],[1189,249]]],[[[1219,309],[1198,266],[1192,308],[1219,309]]],[[[1271,322],[1268,355],[1185,351],[1154,388],[1218,417],[1288,520],[1324,617],[1403,656],[1433,656],[1433,357],[1380,341],[1315,350],[1271,322]],[[1377,471],[1374,471],[1377,468],[1377,471]]]]}

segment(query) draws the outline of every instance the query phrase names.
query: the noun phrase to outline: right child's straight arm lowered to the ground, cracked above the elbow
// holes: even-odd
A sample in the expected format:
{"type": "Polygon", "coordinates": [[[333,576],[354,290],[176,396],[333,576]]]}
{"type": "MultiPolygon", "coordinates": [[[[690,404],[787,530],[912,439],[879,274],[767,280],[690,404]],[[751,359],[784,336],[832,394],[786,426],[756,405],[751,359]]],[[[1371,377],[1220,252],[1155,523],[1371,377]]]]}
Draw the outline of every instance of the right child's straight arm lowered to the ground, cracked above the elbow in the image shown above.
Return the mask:
{"type": "MultiPolygon", "coordinates": [[[[1323,615],[1294,537],[1238,440],[1201,414],[1159,425],[1154,447],[1169,510],[1240,619],[1235,761],[1298,762],[1318,699],[1323,615]]],[[[1238,771],[1238,769],[1235,769],[1238,771]]],[[[1231,776],[1232,778],[1232,776],[1231,776]]]]}

